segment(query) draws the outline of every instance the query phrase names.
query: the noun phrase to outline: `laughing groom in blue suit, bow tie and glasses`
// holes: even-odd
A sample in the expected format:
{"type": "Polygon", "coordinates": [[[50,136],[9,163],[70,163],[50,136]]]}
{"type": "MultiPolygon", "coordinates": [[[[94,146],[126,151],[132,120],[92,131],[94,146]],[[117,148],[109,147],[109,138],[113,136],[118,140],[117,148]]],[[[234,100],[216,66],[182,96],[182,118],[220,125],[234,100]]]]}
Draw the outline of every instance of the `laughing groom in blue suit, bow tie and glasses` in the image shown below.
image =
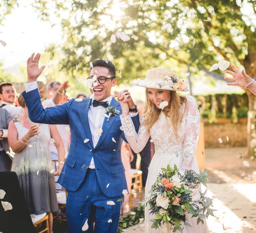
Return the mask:
{"type": "MultiPolygon", "coordinates": [[[[44,69],[44,66],[38,68],[39,59],[40,54],[35,57],[32,54],[27,61],[28,82],[22,95],[33,122],[70,125],[70,149],[58,179],[68,191],[67,232],[115,233],[128,190],[121,160],[122,138],[126,140],[120,129],[122,112],[119,102],[110,94],[117,82],[115,66],[110,61],[94,60],[88,78],[88,81],[93,79],[94,97],[71,99],[44,109],[36,82],[44,69]],[[110,107],[120,113],[107,120],[106,108],[110,107]]],[[[131,98],[128,103],[133,113],[126,114],[132,116],[138,130],[136,106],[131,98]]]]}

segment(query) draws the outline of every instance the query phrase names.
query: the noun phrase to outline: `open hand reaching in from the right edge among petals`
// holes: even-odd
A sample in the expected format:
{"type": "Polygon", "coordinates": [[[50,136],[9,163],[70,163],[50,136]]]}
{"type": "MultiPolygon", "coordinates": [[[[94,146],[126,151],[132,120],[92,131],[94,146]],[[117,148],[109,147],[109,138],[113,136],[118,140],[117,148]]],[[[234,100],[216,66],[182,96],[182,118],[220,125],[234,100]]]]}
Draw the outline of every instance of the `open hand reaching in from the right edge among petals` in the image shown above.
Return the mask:
{"type": "Polygon", "coordinates": [[[231,66],[233,68],[233,71],[226,70],[227,74],[230,74],[234,77],[224,77],[225,80],[233,81],[233,83],[227,83],[229,86],[239,86],[242,88],[245,88],[247,84],[253,81],[253,79],[247,75],[244,70],[240,72],[240,70],[237,69],[234,65],[231,66]]]}

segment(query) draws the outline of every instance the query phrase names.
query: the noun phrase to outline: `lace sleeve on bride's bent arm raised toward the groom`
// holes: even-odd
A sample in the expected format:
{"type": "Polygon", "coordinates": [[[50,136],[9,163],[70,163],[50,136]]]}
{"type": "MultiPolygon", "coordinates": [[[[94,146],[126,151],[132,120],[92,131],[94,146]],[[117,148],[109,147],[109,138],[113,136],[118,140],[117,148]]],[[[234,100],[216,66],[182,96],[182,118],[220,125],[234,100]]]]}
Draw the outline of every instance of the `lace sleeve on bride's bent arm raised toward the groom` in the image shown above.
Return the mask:
{"type": "Polygon", "coordinates": [[[122,122],[126,140],[128,141],[132,150],[135,153],[139,153],[145,147],[150,136],[149,132],[147,132],[146,130],[146,127],[143,125],[143,117],[141,117],[141,120],[140,120],[140,127],[139,127],[138,133],[136,133],[134,124],[129,115],[127,116],[121,115],[120,119],[122,122]]]}

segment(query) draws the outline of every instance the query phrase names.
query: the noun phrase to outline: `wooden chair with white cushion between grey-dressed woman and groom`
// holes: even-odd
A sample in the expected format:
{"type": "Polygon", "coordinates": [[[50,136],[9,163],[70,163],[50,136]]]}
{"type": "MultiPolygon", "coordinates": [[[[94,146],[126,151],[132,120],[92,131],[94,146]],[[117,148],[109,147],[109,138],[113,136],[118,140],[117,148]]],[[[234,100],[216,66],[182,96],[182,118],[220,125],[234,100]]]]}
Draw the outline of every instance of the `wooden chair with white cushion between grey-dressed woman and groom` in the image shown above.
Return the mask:
{"type": "MultiPolygon", "coordinates": [[[[53,159],[52,161],[54,162],[55,171],[57,171],[58,160],[53,159]]],[[[58,174],[55,176],[58,176],[58,174]]],[[[57,182],[55,181],[55,183],[57,182]]],[[[65,192],[57,192],[57,201],[58,201],[58,205],[60,207],[61,212],[56,216],[54,216],[53,218],[58,218],[59,221],[67,221],[66,215],[65,215],[65,208],[66,208],[66,200],[67,200],[68,192],[65,188],[56,188],[56,191],[65,191],[65,192]]]]}

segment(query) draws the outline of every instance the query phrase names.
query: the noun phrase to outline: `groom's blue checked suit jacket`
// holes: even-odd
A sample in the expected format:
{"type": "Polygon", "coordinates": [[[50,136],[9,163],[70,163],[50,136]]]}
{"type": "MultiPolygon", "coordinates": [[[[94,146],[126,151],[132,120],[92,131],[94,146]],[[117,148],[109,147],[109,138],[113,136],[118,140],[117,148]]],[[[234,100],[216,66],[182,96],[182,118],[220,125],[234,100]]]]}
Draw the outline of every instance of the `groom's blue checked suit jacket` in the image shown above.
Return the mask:
{"type": "MultiPolygon", "coordinates": [[[[70,149],[58,182],[69,191],[76,191],[84,180],[90,161],[93,157],[100,187],[108,197],[122,196],[127,189],[125,169],[121,160],[122,138],[124,132],[120,130],[122,113],[118,101],[112,99],[113,106],[120,111],[117,116],[105,117],[102,126],[102,135],[93,147],[92,135],[88,121],[88,109],[91,99],[81,102],[74,99],[51,108],[44,109],[40,100],[38,89],[23,92],[22,96],[28,108],[29,118],[33,122],[43,124],[69,124],[71,132],[70,149]],[[112,140],[115,139],[116,143],[112,140]],[[84,143],[88,138],[89,141],[84,143]],[[114,151],[115,150],[115,151],[114,151]],[[107,188],[107,185],[109,186],[107,188]]],[[[139,116],[132,117],[136,131],[139,128],[139,116]]]]}

